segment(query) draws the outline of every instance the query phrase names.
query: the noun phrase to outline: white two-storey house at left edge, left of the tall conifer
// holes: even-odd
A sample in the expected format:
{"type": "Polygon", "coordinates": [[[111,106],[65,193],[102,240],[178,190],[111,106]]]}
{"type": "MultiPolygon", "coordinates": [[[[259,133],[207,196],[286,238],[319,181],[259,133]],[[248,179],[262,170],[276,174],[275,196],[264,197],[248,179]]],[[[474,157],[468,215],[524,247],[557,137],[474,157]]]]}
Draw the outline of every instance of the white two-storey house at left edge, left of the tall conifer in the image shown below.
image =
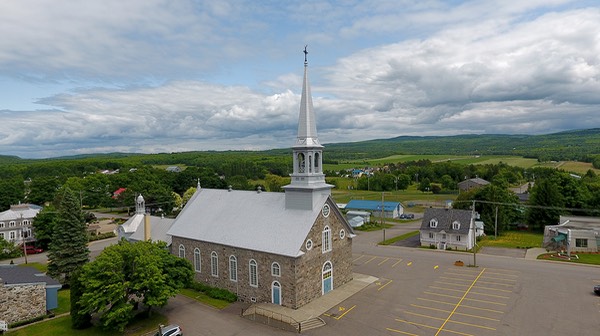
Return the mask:
{"type": "Polygon", "coordinates": [[[16,204],[0,212],[0,238],[15,244],[34,241],[33,218],[41,210],[39,205],[16,204]]]}

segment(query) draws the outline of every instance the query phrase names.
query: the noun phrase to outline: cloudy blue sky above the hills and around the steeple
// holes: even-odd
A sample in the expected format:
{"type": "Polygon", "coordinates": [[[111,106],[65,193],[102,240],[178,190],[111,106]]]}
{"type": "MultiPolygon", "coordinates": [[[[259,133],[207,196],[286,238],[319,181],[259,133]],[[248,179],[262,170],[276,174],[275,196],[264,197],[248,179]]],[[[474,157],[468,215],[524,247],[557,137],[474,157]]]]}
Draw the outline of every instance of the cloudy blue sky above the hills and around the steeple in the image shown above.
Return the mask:
{"type": "MultiPolygon", "coordinates": [[[[600,127],[596,0],[2,0],[0,155],[600,127]]],[[[325,147],[325,154],[326,154],[325,147]]]]}

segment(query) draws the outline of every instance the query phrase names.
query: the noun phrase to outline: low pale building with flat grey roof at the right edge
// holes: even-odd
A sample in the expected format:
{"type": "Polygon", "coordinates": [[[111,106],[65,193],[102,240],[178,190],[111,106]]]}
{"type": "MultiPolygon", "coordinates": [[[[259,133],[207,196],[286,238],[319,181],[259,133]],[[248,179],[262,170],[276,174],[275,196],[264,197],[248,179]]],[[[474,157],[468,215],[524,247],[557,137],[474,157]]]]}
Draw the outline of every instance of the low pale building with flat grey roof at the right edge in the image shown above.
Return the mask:
{"type": "Polygon", "coordinates": [[[557,225],[544,227],[544,247],[555,251],[598,252],[600,218],[560,216],[557,225]]]}

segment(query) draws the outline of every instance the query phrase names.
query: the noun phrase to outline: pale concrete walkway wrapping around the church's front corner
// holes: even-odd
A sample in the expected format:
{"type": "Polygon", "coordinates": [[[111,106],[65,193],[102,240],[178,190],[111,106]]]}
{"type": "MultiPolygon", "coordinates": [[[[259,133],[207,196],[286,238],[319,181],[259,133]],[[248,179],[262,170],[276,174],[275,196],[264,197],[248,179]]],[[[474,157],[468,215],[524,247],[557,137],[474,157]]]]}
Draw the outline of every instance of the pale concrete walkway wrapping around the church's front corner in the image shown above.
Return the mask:
{"type": "Polygon", "coordinates": [[[370,275],[354,273],[352,281],[314,299],[298,309],[287,308],[273,303],[257,303],[252,306],[291,317],[297,322],[302,322],[323,315],[323,313],[326,313],[352,295],[360,292],[368,285],[377,281],[377,279],[370,275]]]}

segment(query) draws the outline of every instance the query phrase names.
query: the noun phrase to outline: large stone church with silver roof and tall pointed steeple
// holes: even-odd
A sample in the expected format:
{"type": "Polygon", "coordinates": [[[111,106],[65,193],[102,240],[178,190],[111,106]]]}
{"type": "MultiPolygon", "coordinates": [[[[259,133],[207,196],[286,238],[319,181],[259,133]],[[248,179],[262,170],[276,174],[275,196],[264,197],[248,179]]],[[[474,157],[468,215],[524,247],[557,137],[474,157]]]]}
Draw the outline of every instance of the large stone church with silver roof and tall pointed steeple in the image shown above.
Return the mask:
{"type": "Polygon", "coordinates": [[[325,182],[304,52],[293,173],[284,192],[198,186],[167,232],[196,281],[244,302],[294,309],[352,280],[355,236],[325,182]]]}

